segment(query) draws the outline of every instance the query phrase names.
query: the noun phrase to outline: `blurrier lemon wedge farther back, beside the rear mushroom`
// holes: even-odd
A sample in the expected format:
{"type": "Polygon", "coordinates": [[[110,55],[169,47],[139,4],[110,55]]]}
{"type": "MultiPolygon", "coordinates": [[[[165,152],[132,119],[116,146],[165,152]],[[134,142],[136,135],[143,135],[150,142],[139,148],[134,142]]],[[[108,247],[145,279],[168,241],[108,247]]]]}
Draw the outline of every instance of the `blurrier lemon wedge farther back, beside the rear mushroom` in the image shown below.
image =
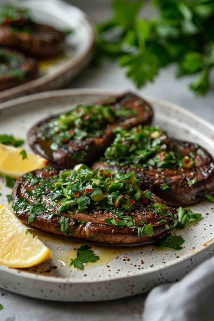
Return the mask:
{"type": "Polygon", "coordinates": [[[47,165],[47,160],[39,155],[27,153],[23,159],[21,147],[11,147],[0,143],[0,173],[18,178],[31,170],[41,169],[47,165]]]}

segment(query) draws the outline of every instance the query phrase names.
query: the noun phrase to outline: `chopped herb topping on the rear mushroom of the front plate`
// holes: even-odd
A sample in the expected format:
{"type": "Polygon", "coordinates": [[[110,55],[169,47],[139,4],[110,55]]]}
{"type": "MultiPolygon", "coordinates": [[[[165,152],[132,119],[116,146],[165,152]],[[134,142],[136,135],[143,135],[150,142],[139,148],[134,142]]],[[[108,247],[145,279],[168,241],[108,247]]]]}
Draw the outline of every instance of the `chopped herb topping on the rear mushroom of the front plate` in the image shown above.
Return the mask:
{"type": "MultiPolygon", "coordinates": [[[[90,137],[101,137],[107,124],[114,123],[118,117],[131,117],[136,111],[112,105],[78,105],[75,109],[59,115],[40,128],[38,139],[49,140],[55,151],[70,140],[81,142],[90,137]]],[[[82,154],[82,153],[81,153],[82,154]]],[[[73,155],[81,160],[78,153],[73,155]]]]}

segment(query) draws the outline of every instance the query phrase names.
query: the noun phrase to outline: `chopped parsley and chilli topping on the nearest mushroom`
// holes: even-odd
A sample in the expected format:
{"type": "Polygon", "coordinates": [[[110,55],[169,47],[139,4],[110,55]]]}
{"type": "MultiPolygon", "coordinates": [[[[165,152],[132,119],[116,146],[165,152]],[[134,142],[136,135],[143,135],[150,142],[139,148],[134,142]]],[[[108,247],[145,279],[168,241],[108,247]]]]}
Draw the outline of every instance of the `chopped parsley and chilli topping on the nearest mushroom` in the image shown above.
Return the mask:
{"type": "MultiPolygon", "coordinates": [[[[144,220],[140,227],[136,226],[133,213],[135,209],[143,206],[145,212],[155,212],[163,217],[172,216],[165,204],[153,203],[154,195],[150,191],[141,191],[134,172],[111,172],[108,169],[92,171],[84,164],[79,164],[73,170],[60,171],[58,175],[53,174],[47,180],[26,173],[23,181],[27,182],[29,187],[33,186],[30,190],[25,189],[25,193],[31,197],[32,203],[36,204],[28,203],[25,198],[14,200],[14,212],[18,215],[29,212],[29,222],[44,213],[48,218],[59,215],[58,232],[65,235],[70,234],[70,217],[75,219],[75,213],[87,215],[94,211],[105,211],[109,216],[103,218],[103,222],[134,229],[139,236],[152,236],[154,230],[153,226],[146,224],[144,220]]],[[[173,219],[176,221],[174,217],[173,219]]],[[[87,222],[76,220],[79,224],[87,222]]]]}

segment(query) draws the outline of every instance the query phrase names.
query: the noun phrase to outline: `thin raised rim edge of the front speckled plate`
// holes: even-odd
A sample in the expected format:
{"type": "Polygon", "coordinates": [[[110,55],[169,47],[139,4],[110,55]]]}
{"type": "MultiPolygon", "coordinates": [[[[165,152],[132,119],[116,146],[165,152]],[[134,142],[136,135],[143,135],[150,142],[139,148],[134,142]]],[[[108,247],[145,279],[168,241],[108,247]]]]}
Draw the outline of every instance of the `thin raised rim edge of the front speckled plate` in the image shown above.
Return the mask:
{"type": "MultiPolygon", "coordinates": [[[[83,95],[83,96],[93,96],[93,95],[101,95],[101,96],[116,96],[116,95],[121,95],[124,93],[124,91],[114,91],[110,89],[96,89],[96,88],[81,88],[81,89],[63,89],[63,90],[54,90],[54,91],[45,91],[45,92],[40,92],[28,96],[23,96],[19,98],[15,98],[13,100],[9,100],[3,103],[0,103],[0,111],[4,110],[9,107],[15,107],[16,105],[22,104],[22,103],[30,103],[30,102],[35,102],[37,100],[41,99],[49,99],[49,98],[59,98],[59,97],[64,97],[64,96],[77,96],[77,95],[83,95]]],[[[198,121],[201,123],[203,126],[209,127],[210,130],[213,131],[214,133],[214,125],[212,125],[210,122],[207,120],[195,115],[193,112],[186,110],[185,108],[168,102],[164,100],[159,100],[150,96],[144,96],[151,104],[158,103],[161,104],[162,106],[166,107],[167,109],[173,109],[176,110],[188,117],[192,117],[195,121],[198,121]]],[[[66,284],[78,284],[78,283],[99,283],[99,282],[105,282],[105,281],[113,281],[113,280],[121,280],[127,277],[137,277],[140,275],[145,275],[145,274],[150,274],[154,273],[160,270],[165,270],[173,265],[178,265],[181,262],[184,262],[188,260],[189,258],[201,253],[203,250],[207,249],[208,247],[212,246],[214,244],[214,237],[208,240],[206,243],[204,243],[201,247],[194,249],[193,251],[189,252],[188,254],[179,257],[175,261],[168,262],[164,264],[162,267],[158,266],[151,268],[149,271],[139,271],[133,275],[123,275],[123,276],[115,276],[115,277],[109,277],[108,279],[106,278],[101,278],[99,280],[79,280],[75,281],[72,278],[63,278],[63,277],[56,277],[56,276],[44,276],[44,275],[39,275],[39,274],[34,274],[31,272],[27,271],[22,271],[20,269],[12,269],[3,265],[0,265],[0,272],[7,272],[13,275],[18,274],[19,276],[23,276],[25,278],[30,278],[34,280],[39,280],[39,281],[45,281],[45,282],[54,282],[54,283],[66,283],[66,284]]]]}

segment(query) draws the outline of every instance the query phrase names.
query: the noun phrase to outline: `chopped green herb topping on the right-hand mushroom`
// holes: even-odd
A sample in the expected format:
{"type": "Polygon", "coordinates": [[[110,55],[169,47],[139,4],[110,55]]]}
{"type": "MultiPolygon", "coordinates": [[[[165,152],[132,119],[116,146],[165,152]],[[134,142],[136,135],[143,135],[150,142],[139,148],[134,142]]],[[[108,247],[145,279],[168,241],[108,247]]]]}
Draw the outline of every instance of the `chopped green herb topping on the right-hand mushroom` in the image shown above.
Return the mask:
{"type": "MultiPolygon", "coordinates": [[[[194,160],[178,151],[177,146],[169,140],[167,133],[158,126],[143,128],[138,126],[131,130],[117,127],[115,134],[114,142],[106,149],[104,158],[101,158],[109,165],[158,169],[194,166],[194,160]]],[[[172,187],[164,182],[161,189],[170,191],[172,187]]]]}

